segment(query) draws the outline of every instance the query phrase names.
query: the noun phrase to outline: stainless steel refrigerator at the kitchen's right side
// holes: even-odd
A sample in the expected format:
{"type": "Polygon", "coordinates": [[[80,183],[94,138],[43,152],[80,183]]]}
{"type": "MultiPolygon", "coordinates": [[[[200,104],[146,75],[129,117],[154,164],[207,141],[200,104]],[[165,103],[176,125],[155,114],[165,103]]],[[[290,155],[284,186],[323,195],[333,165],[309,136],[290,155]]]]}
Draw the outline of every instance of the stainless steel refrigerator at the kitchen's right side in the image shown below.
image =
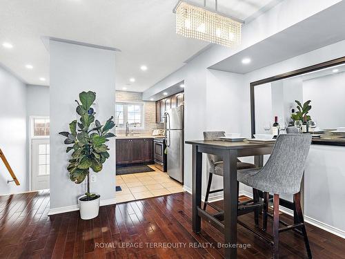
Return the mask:
{"type": "Polygon", "coordinates": [[[167,173],[184,182],[184,106],[171,108],[165,113],[167,173]]]}

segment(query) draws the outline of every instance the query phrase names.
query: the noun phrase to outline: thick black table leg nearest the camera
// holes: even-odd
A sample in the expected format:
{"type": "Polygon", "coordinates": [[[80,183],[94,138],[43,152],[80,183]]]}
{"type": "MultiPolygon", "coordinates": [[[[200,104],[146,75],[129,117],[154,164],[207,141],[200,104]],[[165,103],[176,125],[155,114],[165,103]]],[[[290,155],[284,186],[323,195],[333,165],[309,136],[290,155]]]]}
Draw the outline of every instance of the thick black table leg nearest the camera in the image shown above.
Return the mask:
{"type": "Polygon", "coordinates": [[[224,251],[237,258],[237,151],[224,151],[224,251]]]}

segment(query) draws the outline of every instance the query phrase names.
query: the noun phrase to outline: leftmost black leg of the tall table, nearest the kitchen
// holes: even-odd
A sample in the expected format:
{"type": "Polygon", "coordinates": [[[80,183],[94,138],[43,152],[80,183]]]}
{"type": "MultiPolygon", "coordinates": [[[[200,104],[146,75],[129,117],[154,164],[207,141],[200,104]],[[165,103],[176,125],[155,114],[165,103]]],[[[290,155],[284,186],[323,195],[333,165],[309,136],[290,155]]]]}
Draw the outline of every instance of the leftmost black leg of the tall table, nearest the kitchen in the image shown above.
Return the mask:
{"type": "Polygon", "coordinates": [[[201,218],[197,215],[197,208],[201,207],[201,175],[202,175],[202,153],[197,151],[193,145],[193,231],[199,233],[201,230],[201,218]]]}

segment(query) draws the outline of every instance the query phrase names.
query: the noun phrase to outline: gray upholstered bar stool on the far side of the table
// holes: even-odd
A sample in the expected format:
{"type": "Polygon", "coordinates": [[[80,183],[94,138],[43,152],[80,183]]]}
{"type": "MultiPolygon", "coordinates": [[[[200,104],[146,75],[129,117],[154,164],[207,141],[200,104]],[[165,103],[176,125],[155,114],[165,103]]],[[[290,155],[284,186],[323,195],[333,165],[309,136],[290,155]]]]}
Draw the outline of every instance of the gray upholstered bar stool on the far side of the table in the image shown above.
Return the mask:
{"type": "MultiPolygon", "coordinates": [[[[204,131],[204,140],[219,140],[218,139],[219,137],[225,137],[225,132],[224,131],[204,131]]],[[[223,191],[223,189],[210,191],[213,174],[223,177],[223,161],[221,160],[221,157],[217,155],[208,154],[207,160],[210,166],[210,171],[208,173],[208,184],[207,184],[207,189],[206,189],[204,210],[206,210],[206,206],[207,204],[209,204],[208,195],[210,195],[210,193],[217,193],[219,191],[223,191]]],[[[255,164],[244,163],[244,162],[241,162],[240,160],[237,160],[237,170],[251,169],[255,167],[256,167],[255,164]]],[[[237,193],[238,193],[238,182],[237,182],[237,193]]],[[[212,206],[212,204],[210,204],[210,206],[212,206]]],[[[214,209],[217,209],[217,208],[214,208],[214,209]]]]}

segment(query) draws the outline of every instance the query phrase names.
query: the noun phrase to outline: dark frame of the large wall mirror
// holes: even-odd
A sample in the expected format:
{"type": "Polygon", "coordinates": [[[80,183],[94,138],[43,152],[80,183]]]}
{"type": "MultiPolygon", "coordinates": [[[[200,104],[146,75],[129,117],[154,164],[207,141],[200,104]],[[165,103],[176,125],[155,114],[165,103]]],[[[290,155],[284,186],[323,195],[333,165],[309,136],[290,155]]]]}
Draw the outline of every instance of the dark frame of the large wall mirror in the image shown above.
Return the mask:
{"type": "MultiPolygon", "coordinates": [[[[255,86],[259,86],[262,84],[267,84],[273,81],[278,81],[282,79],[286,79],[289,77],[295,77],[297,75],[303,75],[306,73],[311,73],[313,71],[321,70],[324,68],[330,68],[332,66],[337,66],[345,64],[345,57],[339,57],[337,59],[332,59],[329,61],[325,61],[313,66],[307,66],[305,68],[299,68],[297,70],[293,70],[287,73],[283,73],[280,75],[275,75],[273,77],[267,77],[265,79],[261,79],[258,81],[253,81],[250,83],[250,120],[251,120],[251,133],[252,137],[255,134],[255,86]]],[[[339,140],[313,140],[313,144],[320,144],[320,145],[331,145],[331,146],[345,146],[345,139],[343,141],[339,140]]]]}

